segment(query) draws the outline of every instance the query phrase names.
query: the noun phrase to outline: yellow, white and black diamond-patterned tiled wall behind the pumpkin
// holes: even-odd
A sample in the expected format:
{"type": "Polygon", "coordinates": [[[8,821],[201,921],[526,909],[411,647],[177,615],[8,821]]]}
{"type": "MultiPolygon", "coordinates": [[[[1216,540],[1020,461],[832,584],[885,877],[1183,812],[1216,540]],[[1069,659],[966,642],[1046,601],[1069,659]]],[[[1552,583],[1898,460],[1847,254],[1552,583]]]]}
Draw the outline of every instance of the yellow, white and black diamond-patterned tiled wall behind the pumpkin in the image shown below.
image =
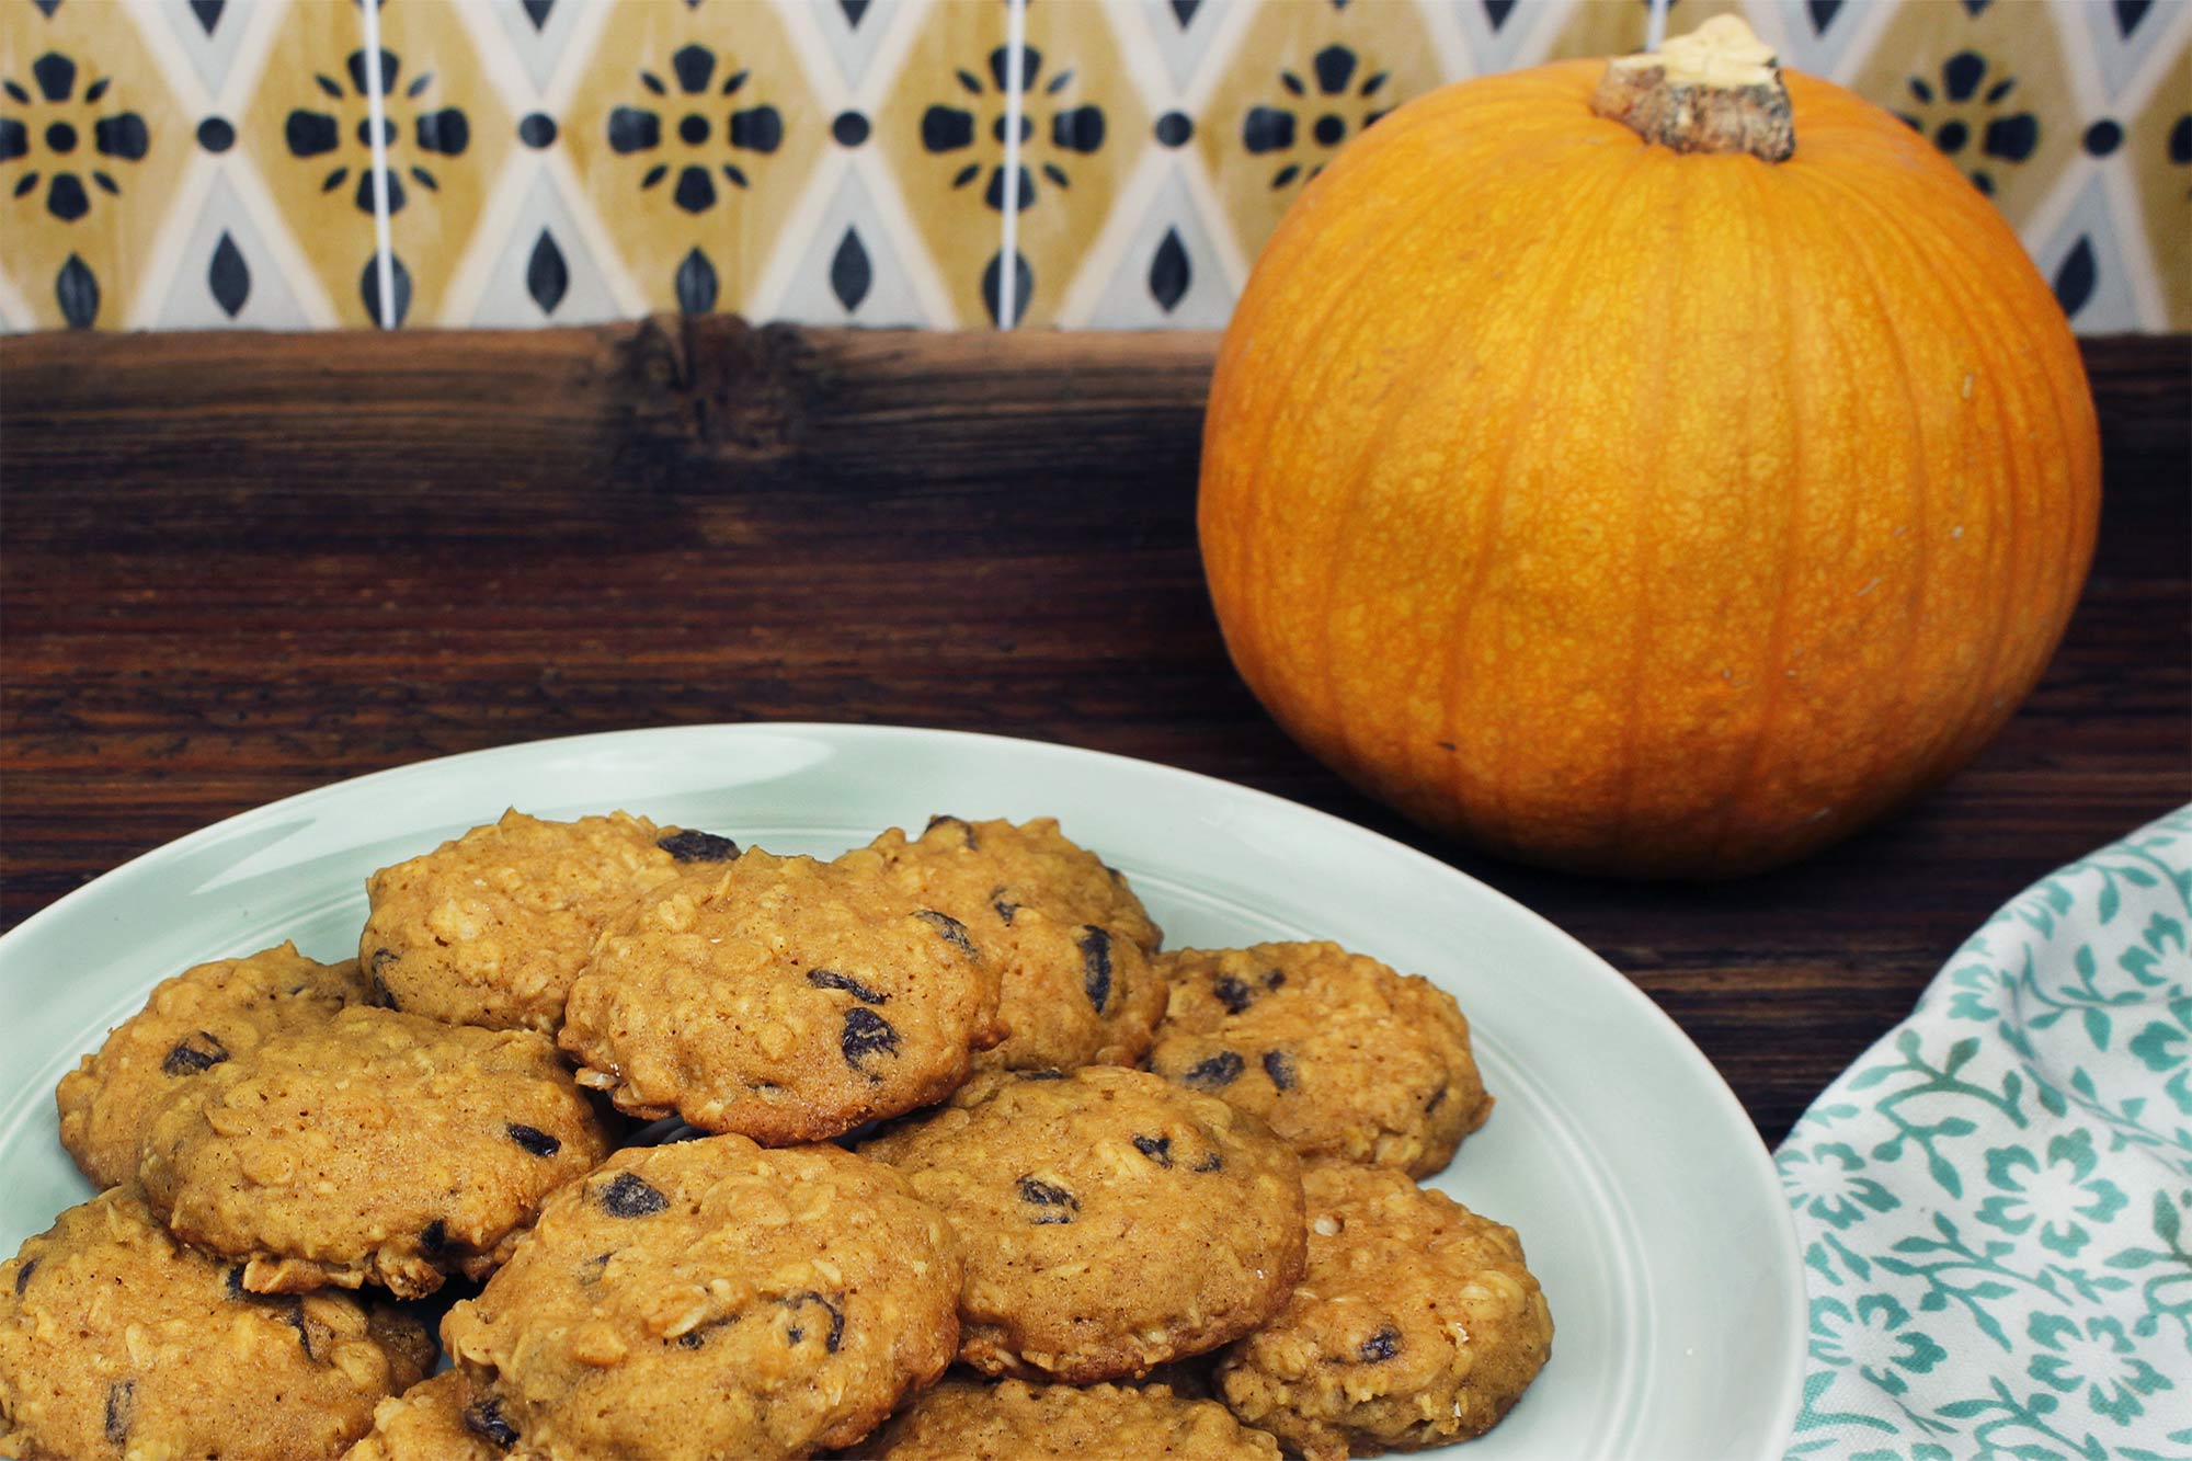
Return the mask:
{"type": "MultiPolygon", "coordinates": [[[[1675,0],[1670,29],[1723,9],[1955,158],[2080,331],[2192,329],[2192,4],[1675,0]]],[[[1214,327],[1385,110],[1644,24],[1642,0],[0,0],[0,327],[1214,327]]]]}

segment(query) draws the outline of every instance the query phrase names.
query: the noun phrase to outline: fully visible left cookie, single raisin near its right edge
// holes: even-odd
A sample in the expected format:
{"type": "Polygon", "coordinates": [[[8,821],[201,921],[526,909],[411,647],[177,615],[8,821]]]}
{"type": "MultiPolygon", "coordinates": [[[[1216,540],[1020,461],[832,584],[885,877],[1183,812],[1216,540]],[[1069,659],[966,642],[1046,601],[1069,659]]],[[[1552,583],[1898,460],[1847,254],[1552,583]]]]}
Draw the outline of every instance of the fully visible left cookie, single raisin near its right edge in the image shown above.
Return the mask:
{"type": "Polygon", "coordinates": [[[355,1005],[213,1066],[145,1132],[175,1233],[252,1292],[487,1277],[612,1132],[535,1031],[355,1005]]]}

